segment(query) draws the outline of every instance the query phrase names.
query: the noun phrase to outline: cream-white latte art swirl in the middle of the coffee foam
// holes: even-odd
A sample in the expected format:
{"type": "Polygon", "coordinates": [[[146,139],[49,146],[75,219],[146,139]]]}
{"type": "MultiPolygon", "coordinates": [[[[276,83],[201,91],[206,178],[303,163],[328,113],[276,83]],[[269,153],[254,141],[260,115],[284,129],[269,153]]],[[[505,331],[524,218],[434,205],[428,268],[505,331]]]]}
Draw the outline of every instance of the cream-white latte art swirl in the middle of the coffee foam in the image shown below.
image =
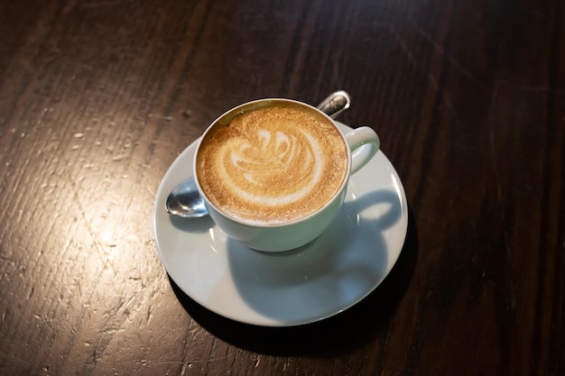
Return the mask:
{"type": "Polygon", "coordinates": [[[323,165],[319,143],[304,130],[261,128],[218,150],[221,182],[236,197],[264,206],[286,205],[311,194],[323,165]]]}

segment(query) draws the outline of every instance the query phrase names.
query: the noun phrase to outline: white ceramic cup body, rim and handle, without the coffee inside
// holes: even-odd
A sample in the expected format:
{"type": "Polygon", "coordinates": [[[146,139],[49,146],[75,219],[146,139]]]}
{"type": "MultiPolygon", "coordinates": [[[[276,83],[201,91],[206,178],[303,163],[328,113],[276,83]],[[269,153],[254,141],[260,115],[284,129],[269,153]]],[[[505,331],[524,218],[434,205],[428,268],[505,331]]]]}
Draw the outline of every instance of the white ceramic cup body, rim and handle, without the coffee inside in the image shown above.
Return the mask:
{"type": "MultiPolygon", "coordinates": [[[[196,149],[193,174],[196,186],[199,189],[199,194],[204,198],[204,204],[208,210],[208,215],[212,218],[216,225],[218,225],[218,227],[227,234],[227,236],[257,251],[289,251],[310,243],[329,227],[335,216],[338,215],[339,208],[344,202],[349,177],[351,174],[354,174],[357,170],[365,166],[366,163],[375,156],[379,146],[380,141],[377,134],[369,127],[359,127],[347,134],[344,134],[339,129],[338,124],[316,107],[291,99],[266,98],[238,105],[227,111],[225,114],[219,116],[218,119],[208,126],[208,129],[205,133],[203,133],[196,149]],[[257,108],[276,105],[298,105],[327,118],[329,122],[333,124],[347,145],[347,170],[345,172],[345,178],[341,181],[341,185],[336,193],[315,212],[287,223],[274,225],[257,224],[253,221],[248,221],[227,214],[227,212],[222,210],[221,207],[218,207],[211,202],[199,181],[198,156],[202,141],[206,138],[210,130],[215,128],[217,124],[227,124],[238,115],[254,111],[257,108]]],[[[328,158],[331,158],[331,156],[328,156],[328,158]]],[[[202,174],[203,173],[204,172],[202,172],[202,174]]]]}

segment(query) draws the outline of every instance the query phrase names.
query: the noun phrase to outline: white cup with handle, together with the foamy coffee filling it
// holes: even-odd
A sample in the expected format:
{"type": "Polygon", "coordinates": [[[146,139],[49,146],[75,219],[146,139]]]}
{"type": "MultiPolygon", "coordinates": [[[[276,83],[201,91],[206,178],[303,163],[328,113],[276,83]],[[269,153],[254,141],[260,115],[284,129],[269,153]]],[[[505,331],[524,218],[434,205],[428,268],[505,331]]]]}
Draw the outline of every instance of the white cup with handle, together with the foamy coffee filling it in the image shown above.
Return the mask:
{"type": "Polygon", "coordinates": [[[369,127],[344,134],[316,107],[266,98],[208,126],[193,174],[209,216],[227,236],[257,251],[289,251],[329,227],[349,177],[379,145],[369,127]]]}

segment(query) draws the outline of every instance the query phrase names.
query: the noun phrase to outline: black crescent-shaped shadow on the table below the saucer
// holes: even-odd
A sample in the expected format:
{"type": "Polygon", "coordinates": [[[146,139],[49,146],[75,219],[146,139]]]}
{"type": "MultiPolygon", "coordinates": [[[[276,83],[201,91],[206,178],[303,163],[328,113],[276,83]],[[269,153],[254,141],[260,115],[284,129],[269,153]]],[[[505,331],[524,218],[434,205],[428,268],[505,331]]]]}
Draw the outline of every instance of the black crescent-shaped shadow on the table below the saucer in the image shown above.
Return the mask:
{"type": "Polygon", "coordinates": [[[290,327],[242,324],[200,306],[171,281],[172,289],[190,316],[212,335],[245,350],[276,355],[327,356],[348,353],[386,332],[398,303],[410,285],[418,258],[418,234],[412,210],[403,250],[393,270],[354,307],[316,323],[290,327]]]}

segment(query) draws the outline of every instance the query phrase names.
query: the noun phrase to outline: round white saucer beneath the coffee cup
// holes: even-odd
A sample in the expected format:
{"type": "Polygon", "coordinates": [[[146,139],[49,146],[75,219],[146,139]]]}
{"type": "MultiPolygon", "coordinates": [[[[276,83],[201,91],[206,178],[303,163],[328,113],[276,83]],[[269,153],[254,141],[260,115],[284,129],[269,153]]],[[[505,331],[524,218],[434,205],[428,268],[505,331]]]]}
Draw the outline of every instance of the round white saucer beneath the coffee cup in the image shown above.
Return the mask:
{"type": "Polygon", "coordinates": [[[192,174],[195,149],[193,142],[162,179],[153,234],[171,279],[201,306],[257,326],[308,324],[355,305],[393,268],[408,228],[408,206],[382,151],[351,177],[346,202],[328,231],[298,250],[264,253],[227,238],[208,217],[181,219],[166,212],[171,189],[192,174]]]}

